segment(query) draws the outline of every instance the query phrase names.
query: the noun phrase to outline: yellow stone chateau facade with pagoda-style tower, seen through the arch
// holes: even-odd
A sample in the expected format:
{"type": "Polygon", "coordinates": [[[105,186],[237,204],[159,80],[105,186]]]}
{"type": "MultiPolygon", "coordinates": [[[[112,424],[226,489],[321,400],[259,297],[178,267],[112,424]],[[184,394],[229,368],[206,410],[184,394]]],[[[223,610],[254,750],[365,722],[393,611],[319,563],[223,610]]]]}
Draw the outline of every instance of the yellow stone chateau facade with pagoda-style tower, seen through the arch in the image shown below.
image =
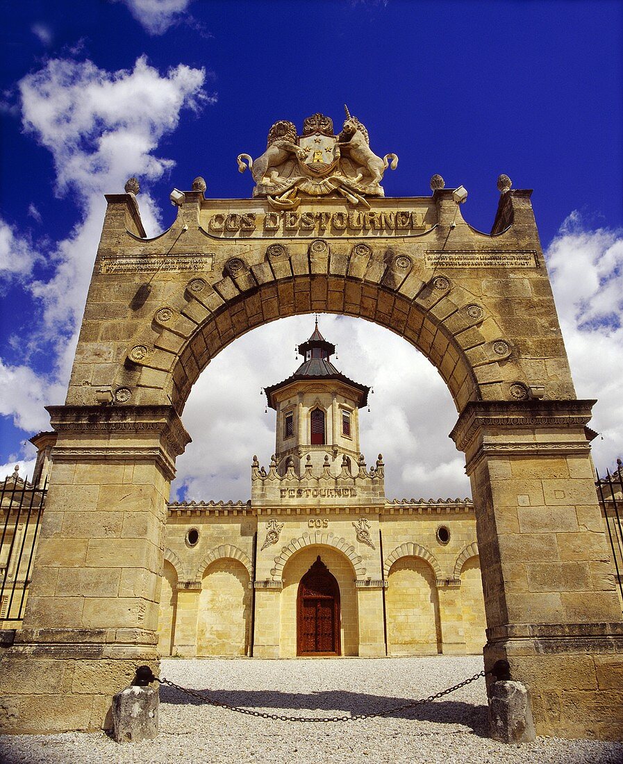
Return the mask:
{"type": "Polygon", "coordinates": [[[330,361],[318,327],[303,364],[266,388],[276,411],[268,470],[251,500],[168,507],[163,655],[399,656],[481,652],[475,517],[465,500],[388,501],[368,469],[368,387],[330,361]]]}

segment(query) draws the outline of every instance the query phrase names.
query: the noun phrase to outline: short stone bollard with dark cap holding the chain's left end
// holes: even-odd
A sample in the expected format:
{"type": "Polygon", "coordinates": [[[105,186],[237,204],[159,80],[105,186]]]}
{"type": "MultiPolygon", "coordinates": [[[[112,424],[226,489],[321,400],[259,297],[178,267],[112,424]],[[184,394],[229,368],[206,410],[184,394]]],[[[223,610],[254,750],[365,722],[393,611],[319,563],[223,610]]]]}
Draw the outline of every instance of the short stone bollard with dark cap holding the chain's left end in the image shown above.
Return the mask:
{"type": "Polygon", "coordinates": [[[151,669],[140,666],[131,685],[112,698],[112,736],[117,743],[138,743],[157,735],[160,697],[150,681],[151,669]]]}

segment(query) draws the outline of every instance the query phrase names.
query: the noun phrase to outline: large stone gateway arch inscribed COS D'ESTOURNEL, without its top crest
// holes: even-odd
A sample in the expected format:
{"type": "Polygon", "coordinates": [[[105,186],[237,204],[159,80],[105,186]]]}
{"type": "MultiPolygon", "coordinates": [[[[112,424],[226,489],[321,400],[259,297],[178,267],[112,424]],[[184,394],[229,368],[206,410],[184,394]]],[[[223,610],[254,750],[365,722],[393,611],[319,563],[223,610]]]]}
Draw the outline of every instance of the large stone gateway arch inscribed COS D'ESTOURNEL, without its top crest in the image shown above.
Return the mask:
{"type": "Polygon", "coordinates": [[[449,189],[371,199],[356,220],[343,199],[277,213],[190,191],[151,240],[134,194],[107,196],[67,404],[48,409],[46,521],[24,626],[2,662],[8,730],[98,728],[112,688],[138,663],[157,669],[164,505],[190,442],[188,393],[235,338],[316,310],[385,326],[440,371],[472,481],[485,665],[508,659],[531,685],[539,733],[614,734],[615,717],[582,712],[616,707],[599,676],[614,646],[623,652],[585,432],[593,402],[576,400],[530,196],[505,189],[485,235],[449,189]],[[80,659],[105,680],[60,697],[80,659]],[[42,672],[57,678],[45,719],[31,702],[42,672]]]}

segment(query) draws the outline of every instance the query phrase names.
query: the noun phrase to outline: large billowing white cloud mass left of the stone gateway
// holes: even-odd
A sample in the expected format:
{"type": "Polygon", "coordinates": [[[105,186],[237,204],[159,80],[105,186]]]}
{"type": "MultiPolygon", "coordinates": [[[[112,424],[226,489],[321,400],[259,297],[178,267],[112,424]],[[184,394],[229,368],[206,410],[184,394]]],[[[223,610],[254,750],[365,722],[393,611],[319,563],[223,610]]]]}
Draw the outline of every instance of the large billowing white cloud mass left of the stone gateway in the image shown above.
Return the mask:
{"type": "MultiPolygon", "coordinates": [[[[48,61],[18,83],[24,131],[49,149],[57,193],[72,191],[79,219],[66,239],[47,247],[52,276],[35,277],[29,286],[36,319],[29,342],[54,348],[50,377],[28,366],[0,366],[0,413],[16,426],[28,431],[47,426],[43,406],[63,401],[102,231],[103,193],[121,190],[131,175],[157,180],[174,166],[154,152],[177,128],[184,108],[196,111],[209,102],[204,79],[202,69],[181,64],[162,75],[144,57],[132,70],[117,72],[65,58],[48,61]]],[[[140,202],[145,227],[157,231],[156,203],[148,193],[140,202]]],[[[32,210],[31,215],[37,218],[32,210]]],[[[0,221],[0,277],[30,275],[37,257],[28,238],[0,221]]]]}

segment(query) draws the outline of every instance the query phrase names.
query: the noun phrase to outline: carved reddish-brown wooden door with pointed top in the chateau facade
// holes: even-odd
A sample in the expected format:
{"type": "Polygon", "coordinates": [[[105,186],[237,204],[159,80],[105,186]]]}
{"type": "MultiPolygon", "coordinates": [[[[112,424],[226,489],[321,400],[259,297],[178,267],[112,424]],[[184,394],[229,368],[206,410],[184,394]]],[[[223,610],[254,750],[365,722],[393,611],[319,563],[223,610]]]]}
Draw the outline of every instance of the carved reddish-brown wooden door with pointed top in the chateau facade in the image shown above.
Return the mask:
{"type": "Polygon", "coordinates": [[[339,586],[320,555],[297,594],[297,655],[339,656],[339,586]]]}

